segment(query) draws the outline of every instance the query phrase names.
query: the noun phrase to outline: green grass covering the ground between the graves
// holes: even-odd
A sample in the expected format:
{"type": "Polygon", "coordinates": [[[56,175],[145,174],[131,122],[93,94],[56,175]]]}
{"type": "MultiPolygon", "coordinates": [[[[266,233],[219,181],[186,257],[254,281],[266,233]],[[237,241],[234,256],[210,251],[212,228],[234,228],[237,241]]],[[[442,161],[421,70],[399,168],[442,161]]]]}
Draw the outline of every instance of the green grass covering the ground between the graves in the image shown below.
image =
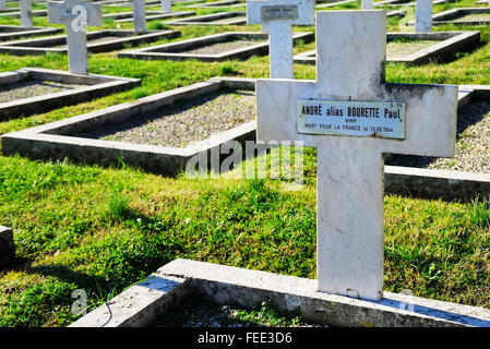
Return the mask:
{"type": "MultiPolygon", "coordinates": [[[[470,5],[473,1],[463,0],[434,5],[434,11],[470,5]]],[[[389,32],[401,31],[398,21],[389,20],[389,32]]],[[[19,20],[0,21],[0,25],[12,24],[19,25],[19,20]]],[[[47,26],[47,19],[34,17],[34,25],[47,26]]],[[[105,28],[117,25],[105,22],[105,28]]],[[[131,23],[119,25],[131,28],[131,23]]],[[[167,28],[148,23],[148,28],[163,27],[167,28]]],[[[181,37],[152,45],[227,31],[259,31],[259,26],[171,28],[181,31],[181,37]]],[[[480,31],[481,45],[445,63],[387,63],[386,81],[489,84],[490,28],[443,25],[435,31],[480,31]]],[[[297,45],[295,53],[308,49],[297,45]]],[[[141,79],[142,86],[0,122],[0,134],[214,76],[268,76],[268,57],[205,63],[135,61],[106,52],[89,55],[88,63],[91,73],[141,79]]],[[[24,67],[68,70],[68,59],[62,55],[0,56],[1,72],[24,67]]],[[[313,65],[295,64],[295,79],[314,77],[313,65]]],[[[464,137],[456,143],[462,146],[464,137]]],[[[304,185],[290,192],[282,189],[280,180],[272,179],[166,178],[123,163],[100,168],[0,157],[0,224],[13,229],[16,253],[15,262],[0,270],[0,326],[67,326],[77,318],[71,311],[73,290],[87,292],[91,311],[177,257],[314,278],[316,161],[313,149],[304,149],[304,185]]],[[[408,289],[418,297],[490,308],[487,197],[463,203],[386,195],[384,206],[385,290],[408,289]]]]}

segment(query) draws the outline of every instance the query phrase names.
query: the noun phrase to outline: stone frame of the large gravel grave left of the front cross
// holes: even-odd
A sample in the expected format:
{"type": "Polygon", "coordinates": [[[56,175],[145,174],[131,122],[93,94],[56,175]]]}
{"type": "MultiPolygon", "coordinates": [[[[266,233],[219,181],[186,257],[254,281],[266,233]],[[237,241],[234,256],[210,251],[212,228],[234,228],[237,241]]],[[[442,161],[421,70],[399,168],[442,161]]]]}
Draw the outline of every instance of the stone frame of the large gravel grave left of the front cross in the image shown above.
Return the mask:
{"type": "Polygon", "coordinates": [[[33,159],[64,159],[76,163],[112,166],[124,164],[150,172],[176,176],[186,169],[189,159],[208,155],[228,141],[243,143],[255,139],[255,122],[250,121],[187,147],[163,147],[104,140],[68,136],[73,132],[99,124],[120,122],[133,115],[159,109],[200,95],[228,89],[255,89],[253,79],[216,77],[206,82],[140,98],[85,115],[63,119],[37,128],[4,134],[1,137],[3,155],[20,154],[33,159]]]}

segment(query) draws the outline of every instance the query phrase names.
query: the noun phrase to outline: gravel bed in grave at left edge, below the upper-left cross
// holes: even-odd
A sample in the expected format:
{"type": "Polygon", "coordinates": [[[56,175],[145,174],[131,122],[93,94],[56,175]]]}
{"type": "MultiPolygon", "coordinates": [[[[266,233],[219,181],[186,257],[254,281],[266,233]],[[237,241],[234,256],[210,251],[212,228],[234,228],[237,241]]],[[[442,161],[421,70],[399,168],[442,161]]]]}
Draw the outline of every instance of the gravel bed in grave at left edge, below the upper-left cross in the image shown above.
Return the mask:
{"type": "Polygon", "coordinates": [[[0,87],[0,103],[48,95],[61,91],[85,87],[86,85],[63,84],[52,81],[27,81],[13,86],[0,87]]]}

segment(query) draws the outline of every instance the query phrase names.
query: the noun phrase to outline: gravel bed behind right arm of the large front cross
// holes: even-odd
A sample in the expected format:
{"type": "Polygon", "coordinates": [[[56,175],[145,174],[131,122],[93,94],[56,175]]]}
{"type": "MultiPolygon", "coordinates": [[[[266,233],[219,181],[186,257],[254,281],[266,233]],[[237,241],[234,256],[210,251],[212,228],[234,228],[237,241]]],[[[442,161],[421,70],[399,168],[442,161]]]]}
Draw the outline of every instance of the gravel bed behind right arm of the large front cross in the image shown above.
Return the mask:
{"type": "Polygon", "coordinates": [[[454,158],[395,155],[386,165],[490,173],[489,139],[490,101],[471,101],[457,115],[454,158]]]}

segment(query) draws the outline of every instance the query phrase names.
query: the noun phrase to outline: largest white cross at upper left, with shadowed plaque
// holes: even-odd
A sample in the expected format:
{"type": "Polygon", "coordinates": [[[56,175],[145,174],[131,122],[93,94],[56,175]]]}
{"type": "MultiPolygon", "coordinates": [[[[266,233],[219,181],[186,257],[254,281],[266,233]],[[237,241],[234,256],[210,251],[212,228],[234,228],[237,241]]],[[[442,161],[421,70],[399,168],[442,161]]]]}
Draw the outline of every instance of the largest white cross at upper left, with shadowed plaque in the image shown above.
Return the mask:
{"type": "Polygon", "coordinates": [[[48,2],[49,23],[67,27],[68,60],[70,72],[88,74],[86,26],[101,26],[100,4],[83,0],[48,2]]]}

